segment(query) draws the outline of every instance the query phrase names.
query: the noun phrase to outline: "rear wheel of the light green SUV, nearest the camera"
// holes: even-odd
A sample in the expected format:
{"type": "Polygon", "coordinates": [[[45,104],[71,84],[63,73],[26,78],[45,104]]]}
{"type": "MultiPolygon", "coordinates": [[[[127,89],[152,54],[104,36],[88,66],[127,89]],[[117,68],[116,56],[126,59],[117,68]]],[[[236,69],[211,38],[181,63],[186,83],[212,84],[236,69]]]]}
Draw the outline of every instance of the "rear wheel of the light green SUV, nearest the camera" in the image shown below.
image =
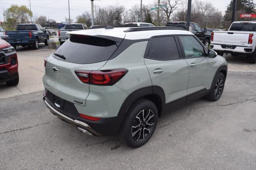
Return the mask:
{"type": "Polygon", "coordinates": [[[153,102],[146,99],[135,102],[128,110],[120,129],[121,142],[134,148],[144,145],[153,135],[157,119],[158,110],[153,102]]]}

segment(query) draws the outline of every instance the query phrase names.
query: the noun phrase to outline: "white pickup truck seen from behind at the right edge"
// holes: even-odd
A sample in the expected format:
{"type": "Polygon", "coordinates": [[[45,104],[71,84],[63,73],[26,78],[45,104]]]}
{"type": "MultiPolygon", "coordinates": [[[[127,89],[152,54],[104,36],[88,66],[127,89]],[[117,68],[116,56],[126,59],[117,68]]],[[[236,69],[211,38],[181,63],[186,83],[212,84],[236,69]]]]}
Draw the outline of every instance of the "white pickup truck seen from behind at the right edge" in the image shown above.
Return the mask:
{"type": "Polygon", "coordinates": [[[211,47],[218,55],[244,54],[250,63],[256,63],[256,22],[236,21],[228,31],[214,31],[211,47]]]}

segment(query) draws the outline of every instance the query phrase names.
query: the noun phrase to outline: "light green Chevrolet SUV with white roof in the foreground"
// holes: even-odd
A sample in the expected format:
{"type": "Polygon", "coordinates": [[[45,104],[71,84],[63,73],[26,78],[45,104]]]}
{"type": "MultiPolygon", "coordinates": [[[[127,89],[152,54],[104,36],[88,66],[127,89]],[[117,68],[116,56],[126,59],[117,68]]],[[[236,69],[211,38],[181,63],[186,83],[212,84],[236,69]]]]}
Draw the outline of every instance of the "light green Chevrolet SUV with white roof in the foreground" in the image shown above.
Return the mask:
{"type": "Polygon", "coordinates": [[[128,146],[140,147],[174,103],[218,100],[226,75],[226,60],[182,28],[72,31],[45,59],[43,99],[54,115],[86,134],[119,134],[128,146]]]}

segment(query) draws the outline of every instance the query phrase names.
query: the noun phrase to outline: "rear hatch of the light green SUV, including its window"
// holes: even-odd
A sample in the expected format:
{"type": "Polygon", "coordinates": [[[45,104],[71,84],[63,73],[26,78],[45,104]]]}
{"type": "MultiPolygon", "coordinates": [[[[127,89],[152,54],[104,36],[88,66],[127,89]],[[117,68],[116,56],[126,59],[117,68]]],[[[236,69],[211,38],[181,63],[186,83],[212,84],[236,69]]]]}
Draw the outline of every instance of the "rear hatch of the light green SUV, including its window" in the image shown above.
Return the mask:
{"type": "Polygon", "coordinates": [[[85,106],[89,94],[89,84],[83,83],[75,70],[98,70],[118,48],[110,39],[71,35],[47,59],[44,86],[54,95],[85,106]]]}

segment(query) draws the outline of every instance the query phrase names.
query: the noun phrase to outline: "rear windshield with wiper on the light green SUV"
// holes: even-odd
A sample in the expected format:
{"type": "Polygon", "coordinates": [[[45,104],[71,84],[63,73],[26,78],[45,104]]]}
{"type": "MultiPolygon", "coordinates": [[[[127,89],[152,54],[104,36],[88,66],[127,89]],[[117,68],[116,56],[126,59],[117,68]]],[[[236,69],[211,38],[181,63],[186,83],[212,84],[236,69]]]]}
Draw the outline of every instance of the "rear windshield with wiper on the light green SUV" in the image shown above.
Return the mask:
{"type": "MultiPolygon", "coordinates": [[[[76,64],[90,64],[107,61],[117,49],[115,41],[84,35],[71,35],[54,54],[63,55],[64,61],[76,64]]],[[[55,58],[60,59],[56,55],[55,58]]]]}

